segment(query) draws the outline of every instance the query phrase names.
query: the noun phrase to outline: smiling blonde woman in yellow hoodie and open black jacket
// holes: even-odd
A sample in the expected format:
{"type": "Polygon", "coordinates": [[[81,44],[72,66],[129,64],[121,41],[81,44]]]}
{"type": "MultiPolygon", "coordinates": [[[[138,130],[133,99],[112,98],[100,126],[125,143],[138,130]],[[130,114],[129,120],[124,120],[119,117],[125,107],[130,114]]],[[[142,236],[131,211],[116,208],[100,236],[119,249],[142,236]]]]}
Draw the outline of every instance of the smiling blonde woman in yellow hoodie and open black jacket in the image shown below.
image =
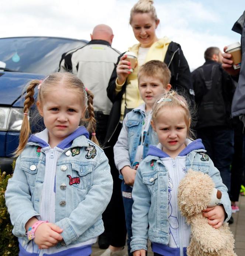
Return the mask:
{"type": "Polygon", "coordinates": [[[139,43],[129,47],[128,51],[137,55],[138,65],[132,73],[128,71],[130,63],[125,60],[126,55],[123,53],[118,57],[117,66],[111,75],[107,95],[113,102],[113,108],[105,141],[111,142],[109,145],[113,144],[113,137],[116,137],[117,140],[117,131],[120,132],[120,123],[123,121],[125,105],[127,109],[132,109],[143,102],[139,95],[137,74],[139,67],[147,61],[164,61],[171,71],[170,84],[173,90],[178,90],[180,94],[189,97],[191,101],[194,100],[189,65],[180,45],[166,36],[161,39],[156,37],[159,19],[152,0],[139,0],[132,7],[130,25],[139,43]]]}

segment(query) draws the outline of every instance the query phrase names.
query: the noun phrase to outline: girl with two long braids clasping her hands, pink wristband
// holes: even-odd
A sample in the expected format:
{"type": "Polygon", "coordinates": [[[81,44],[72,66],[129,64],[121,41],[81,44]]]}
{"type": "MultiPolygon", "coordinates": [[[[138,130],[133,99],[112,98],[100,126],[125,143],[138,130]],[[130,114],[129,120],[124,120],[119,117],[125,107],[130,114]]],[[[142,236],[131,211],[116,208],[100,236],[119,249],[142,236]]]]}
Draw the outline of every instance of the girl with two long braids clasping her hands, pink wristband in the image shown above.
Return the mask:
{"type": "Polygon", "coordinates": [[[93,94],[75,75],[55,73],[28,85],[18,158],[5,194],[19,255],[91,254],[104,231],[101,214],[113,186],[95,126],[93,94]],[[46,129],[29,137],[35,87],[46,129]]]}

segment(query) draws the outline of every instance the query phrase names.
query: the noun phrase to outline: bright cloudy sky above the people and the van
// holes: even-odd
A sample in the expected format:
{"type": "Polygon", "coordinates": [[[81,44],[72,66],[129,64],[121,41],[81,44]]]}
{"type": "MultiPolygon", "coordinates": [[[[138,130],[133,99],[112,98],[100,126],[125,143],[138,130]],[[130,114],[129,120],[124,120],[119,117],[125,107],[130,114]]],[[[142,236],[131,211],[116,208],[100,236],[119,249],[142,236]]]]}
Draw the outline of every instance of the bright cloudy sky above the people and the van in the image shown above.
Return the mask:
{"type": "MultiPolygon", "coordinates": [[[[97,24],[114,32],[112,46],[126,51],[137,43],[128,24],[134,0],[0,0],[0,35],[57,36],[90,40],[97,24]]],[[[155,0],[157,36],[179,43],[191,70],[204,63],[207,47],[240,41],[231,31],[245,10],[245,0],[155,0]]]]}

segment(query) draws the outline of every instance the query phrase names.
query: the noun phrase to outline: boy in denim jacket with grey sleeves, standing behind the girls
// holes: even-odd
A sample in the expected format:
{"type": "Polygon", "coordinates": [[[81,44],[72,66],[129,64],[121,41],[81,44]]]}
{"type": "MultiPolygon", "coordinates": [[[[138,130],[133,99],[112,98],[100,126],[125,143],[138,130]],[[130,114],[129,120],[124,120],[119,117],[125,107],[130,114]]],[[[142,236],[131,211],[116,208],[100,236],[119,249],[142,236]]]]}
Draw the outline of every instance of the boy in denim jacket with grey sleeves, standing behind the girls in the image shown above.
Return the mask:
{"type": "Polygon", "coordinates": [[[149,145],[158,144],[157,134],[151,127],[152,107],[155,101],[171,89],[170,70],[165,63],[158,60],[148,61],[138,72],[139,94],[145,102],[129,112],[123,121],[118,141],[114,146],[114,160],[123,179],[121,190],[123,196],[128,255],[132,236],[132,186],[139,163],[146,157],[149,145]]]}

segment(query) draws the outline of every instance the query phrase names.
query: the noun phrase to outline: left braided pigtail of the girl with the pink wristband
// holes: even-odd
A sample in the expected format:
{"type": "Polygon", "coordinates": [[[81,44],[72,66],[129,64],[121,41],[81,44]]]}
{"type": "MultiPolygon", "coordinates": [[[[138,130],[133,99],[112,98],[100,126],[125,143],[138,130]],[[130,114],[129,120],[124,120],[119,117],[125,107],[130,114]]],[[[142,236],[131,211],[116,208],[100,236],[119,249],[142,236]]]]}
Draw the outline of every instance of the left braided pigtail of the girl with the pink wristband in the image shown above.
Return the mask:
{"type": "Polygon", "coordinates": [[[40,83],[39,80],[32,80],[30,82],[30,84],[27,87],[27,92],[25,95],[25,101],[24,101],[24,117],[23,117],[23,122],[21,125],[21,130],[20,130],[20,137],[19,137],[19,145],[18,148],[16,149],[16,151],[14,152],[14,157],[17,157],[21,154],[21,152],[23,151],[23,149],[25,148],[25,145],[27,144],[29,135],[31,133],[31,129],[30,129],[30,122],[28,119],[28,115],[29,115],[29,110],[31,108],[31,106],[34,104],[35,99],[34,99],[34,89],[35,87],[40,83]]]}

